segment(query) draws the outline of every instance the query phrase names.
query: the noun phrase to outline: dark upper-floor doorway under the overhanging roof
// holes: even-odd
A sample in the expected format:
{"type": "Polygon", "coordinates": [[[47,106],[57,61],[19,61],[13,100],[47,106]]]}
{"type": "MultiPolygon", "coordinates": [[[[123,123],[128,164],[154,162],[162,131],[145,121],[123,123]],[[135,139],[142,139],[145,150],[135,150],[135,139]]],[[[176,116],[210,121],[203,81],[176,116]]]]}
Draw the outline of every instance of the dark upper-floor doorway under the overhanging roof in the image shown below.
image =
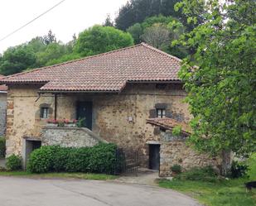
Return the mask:
{"type": "Polygon", "coordinates": [[[83,119],[82,127],[87,127],[92,130],[93,103],[78,102],[76,108],[76,118],[83,119]]]}

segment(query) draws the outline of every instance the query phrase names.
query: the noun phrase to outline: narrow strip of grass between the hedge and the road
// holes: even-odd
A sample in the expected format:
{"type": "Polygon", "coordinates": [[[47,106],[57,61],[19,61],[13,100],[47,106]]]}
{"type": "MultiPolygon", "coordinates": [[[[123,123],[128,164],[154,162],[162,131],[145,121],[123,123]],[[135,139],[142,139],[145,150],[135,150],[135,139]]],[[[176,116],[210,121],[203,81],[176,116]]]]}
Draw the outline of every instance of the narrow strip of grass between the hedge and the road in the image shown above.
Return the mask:
{"type": "Polygon", "coordinates": [[[114,180],[118,178],[115,175],[90,174],[90,173],[44,173],[32,174],[27,171],[4,171],[0,176],[18,176],[35,179],[81,179],[81,180],[114,180]]]}

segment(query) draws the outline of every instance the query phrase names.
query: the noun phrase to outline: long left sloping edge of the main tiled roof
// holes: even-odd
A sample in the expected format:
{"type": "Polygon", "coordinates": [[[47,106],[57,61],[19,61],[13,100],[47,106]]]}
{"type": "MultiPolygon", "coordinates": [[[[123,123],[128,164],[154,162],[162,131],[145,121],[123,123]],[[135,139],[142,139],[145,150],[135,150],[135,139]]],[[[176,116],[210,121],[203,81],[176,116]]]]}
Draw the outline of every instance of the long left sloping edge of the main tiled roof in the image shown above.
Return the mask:
{"type": "Polygon", "coordinates": [[[20,72],[20,73],[17,73],[17,74],[8,75],[8,76],[6,76],[6,77],[4,77],[2,79],[9,79],[9,78],[16,77],[16,76],[19,76],[19,75],[22,75],[22,74],[27,74],[27,73],[35,72],[35,71],[42,70],[42,69],[49,69],[49,68],[53,68],[53,67],[56,67],[56,66],[59,66],[59,65],[66,65],[66,64],[69,64],[69,63],[73,63],[73,62],[80,61],[80,60],[86,60],[86,59],[98,57],[98,56],[101,56],[101,55],[109,55],[109,54],[118,52],[120,50],[128,50],[128,49],[131,49],[131,48],[134,48],[134,47],[137,47],[137,46],[141,46],[141,45],[142,45],[142,43],[141,44],[137,44],[137,45],[133,45],[133,46],[123,47],[123,48],[120,48],[118,50],[109,50],[107,52],[104,52],[104,53],[101,53],[101,54],[97,54],[97,55],[85,56],[85,57],[82,57],[82,58],[79,58],[79,59],[76,59],[76,60],[68,60],[68,61],[61,62],[61,63],[56,64],[56,65],[43,66],[43,67],[40,67],[40,68],[35,68],[35,69],[28,70],[28,71],[23,71],[23,72],[20,72]]]}

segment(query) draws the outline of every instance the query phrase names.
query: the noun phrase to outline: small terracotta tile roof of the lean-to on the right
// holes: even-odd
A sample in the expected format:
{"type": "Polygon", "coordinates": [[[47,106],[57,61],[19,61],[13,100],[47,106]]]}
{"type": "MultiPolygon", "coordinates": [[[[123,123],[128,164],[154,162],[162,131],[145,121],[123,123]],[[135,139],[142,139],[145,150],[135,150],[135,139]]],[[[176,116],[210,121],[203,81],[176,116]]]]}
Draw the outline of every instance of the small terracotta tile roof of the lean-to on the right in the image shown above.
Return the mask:
{"type": "Polygon", "coordinates": [[[186,122],[178,122],[176,121],[176,119],[172,119],[172,118],[150,118],[147,119],[147,123],[158,126],[158,127],[162,127],[164,129],[167,130],[171,130],[176,127],[176,126],[181,126],[181,133],[185,134],[186,136],[191,135],[191,127],[189,127],[188,124],[186,124],[186,122]]]}

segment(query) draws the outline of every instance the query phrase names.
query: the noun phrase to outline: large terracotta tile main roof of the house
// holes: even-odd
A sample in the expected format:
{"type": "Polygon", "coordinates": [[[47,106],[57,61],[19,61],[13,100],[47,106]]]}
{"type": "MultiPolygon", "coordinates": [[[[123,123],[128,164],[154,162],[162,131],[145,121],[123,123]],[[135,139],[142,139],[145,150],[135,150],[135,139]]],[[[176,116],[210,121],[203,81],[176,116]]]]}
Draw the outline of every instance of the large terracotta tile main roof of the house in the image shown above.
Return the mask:
{"type": "Polygon", "coordinates": [[[145,43],[13,74],[2,84],[43,83],[41,91],[121,91],[129,81],[179,81],[181,60],[145,43]]]}

